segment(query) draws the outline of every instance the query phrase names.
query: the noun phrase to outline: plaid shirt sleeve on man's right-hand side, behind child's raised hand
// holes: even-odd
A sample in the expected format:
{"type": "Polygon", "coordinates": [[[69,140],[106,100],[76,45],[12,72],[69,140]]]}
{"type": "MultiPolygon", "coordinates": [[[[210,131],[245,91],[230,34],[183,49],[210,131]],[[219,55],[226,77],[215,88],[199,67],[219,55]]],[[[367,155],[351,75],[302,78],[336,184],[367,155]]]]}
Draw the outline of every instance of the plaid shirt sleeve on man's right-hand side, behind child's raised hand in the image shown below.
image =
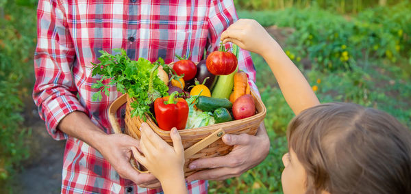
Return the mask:
{"type": "MultiPolygon", "coordinates": [[[[236,8],[234,7],[234,2],[232,0],[214,0],[211,2],[210,10],[208,12],[209,33],[207,54],[218,50],[221,42],[221,33],[223,33],[229,25],[232,25],[238,20],[236,8]]],[[[240,70],[247,73],[251,88],[260,95],[256,85],[256,68],[254,67],[249,51],[240,48],[238,67],[240,70]]]]}

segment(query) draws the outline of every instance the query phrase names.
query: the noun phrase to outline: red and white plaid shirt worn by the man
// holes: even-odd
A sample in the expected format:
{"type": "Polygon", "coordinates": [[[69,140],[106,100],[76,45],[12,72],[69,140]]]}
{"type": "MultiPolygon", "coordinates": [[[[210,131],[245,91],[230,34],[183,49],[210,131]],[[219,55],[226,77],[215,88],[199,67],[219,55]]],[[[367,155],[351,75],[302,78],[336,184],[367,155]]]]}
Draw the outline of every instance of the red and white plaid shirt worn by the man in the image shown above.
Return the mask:
{"type": "MultiPolygon", "coordinates": [[[[192,61],[200,61],[204,49],[215,51],[221,33],[238,19],[233,1],[40,0],[37,16],[33,98],[50,135],[67,140],[62,193],[161,192],[120,178],[97,150],[56,126],[65,115],[84,111],[101,130],[113,133],[108,107],[120,93],[113,86],[109,97],[91,98],[98,92],[91,85],[100,79],[90,70],[91,62],[99,62],[98,51],[125,48],[130,59],[162,57],[166,63],[175,61],[175,53],[190,54],[192,61]]],[[[247,51],[240,50],[238,64],[255,81],[247,51]]],[[[207,182],[189,182],[188,190],[207,193],[207,182]]]]}

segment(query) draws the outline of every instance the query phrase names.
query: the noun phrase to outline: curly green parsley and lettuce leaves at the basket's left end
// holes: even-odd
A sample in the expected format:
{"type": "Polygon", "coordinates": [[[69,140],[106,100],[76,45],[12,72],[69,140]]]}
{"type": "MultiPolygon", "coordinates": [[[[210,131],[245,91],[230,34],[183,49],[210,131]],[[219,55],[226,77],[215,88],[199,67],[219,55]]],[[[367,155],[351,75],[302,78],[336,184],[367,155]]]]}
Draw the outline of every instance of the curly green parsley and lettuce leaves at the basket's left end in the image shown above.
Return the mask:
{"type": "Polygon", "coordinates": [[[168,87],[156,75],[158,66],[164,66],[163,59],[155,61],[156,65],[151,64],[147,59],[139,58],[138,61],[132,61],[127,57],[125,50],[121,48],[113,49],[116,55],[111,55],[106,51],[100,51],[99,64],[92,64],[92,76],[101,75],[101,79],[92,85],[92,88],[101,88],[92,96],[92,100],[101,100],[101,92],[105,96],[109,95],[111,86],[116,85],[119,92],[127,93],[130,98],[136,101],[132,102],[132,116],[146,119],[145,114],[150,112],[149,105],[156,98],[167,96],[168,87]],[[103,83],[110,81],[110,83],[103,83]]]}

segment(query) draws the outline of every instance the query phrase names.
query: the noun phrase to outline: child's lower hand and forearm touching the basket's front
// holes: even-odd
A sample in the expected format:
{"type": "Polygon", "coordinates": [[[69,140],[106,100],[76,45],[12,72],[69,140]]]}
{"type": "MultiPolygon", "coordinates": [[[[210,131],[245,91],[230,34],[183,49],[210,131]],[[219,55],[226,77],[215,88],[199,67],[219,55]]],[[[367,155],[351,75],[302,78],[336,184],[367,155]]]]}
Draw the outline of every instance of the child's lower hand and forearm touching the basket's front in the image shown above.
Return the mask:
{"type": "Polygon", "coordinates": [[[148,124],[141,128],[140,152],[132,147],[136,160],[160,180],[164,193],[187,193],[184,180],[184,148],[176,128],[171,129],[173,146],[161,139],[148,124]]]}

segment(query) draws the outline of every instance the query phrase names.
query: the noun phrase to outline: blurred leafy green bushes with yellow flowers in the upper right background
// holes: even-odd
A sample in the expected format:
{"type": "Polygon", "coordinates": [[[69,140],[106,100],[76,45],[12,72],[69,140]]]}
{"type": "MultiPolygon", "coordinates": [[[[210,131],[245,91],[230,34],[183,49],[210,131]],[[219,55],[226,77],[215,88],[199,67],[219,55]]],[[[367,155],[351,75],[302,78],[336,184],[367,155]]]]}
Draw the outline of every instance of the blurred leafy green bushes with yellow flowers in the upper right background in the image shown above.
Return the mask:
{"type": "MultiPolygon", "coordinates": [[[[264,26],[292,27],[286,53],[299,62],[308,58],[317,70],[350,70],[355,60],[364,66],[369,60],[408,61],[411,55],[411,3],[377,7],[358,16],[345,17],[316,6],[277,12],[240,12],[242,18],[256,18],[264,26]],[[392,14],[386,14],[392,13],[392,14]],[[275,18],[275,19],[273,19],[275,18]]],[[[411,57],[410,57],[411,59],[411,57]]],[[[408,66],[408,69],[409,66],[408,66]]]]}

